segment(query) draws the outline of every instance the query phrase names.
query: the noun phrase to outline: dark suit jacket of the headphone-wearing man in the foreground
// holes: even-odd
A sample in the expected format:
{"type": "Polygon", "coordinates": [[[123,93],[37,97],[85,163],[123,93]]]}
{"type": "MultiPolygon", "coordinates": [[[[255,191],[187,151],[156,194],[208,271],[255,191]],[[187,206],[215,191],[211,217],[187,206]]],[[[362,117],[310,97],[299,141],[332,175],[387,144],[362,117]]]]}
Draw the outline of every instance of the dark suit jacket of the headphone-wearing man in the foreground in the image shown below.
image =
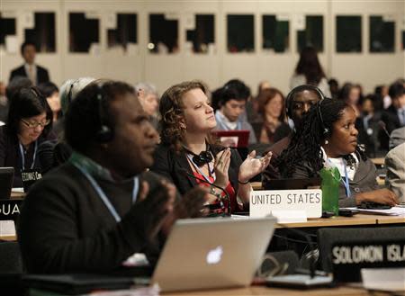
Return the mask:
{"type": "MultiPolygon", "coordinates": [[[[161,190],[156,175],[139,176],[140,184],[148,182],[150,194],[161,190]]],[[[149,212],[139,198],[131,205],[133,186],[94,178],[121,221],[114,220],[76,166],[59,166],[34,184],[24,200],[18,242],[28,272],[110,273],[135,252],[146,253],[150,261],[150,254],[159,251],[156,240],[148,240],[149,212]]]]}

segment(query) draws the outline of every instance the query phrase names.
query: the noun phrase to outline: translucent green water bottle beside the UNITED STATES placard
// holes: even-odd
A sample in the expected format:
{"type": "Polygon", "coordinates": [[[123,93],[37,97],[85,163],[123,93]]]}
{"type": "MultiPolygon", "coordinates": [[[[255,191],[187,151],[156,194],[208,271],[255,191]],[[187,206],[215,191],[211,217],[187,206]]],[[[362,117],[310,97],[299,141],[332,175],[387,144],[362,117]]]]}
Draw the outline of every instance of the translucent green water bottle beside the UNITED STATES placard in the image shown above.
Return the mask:
{"type": "Polygon", "coordinates": [[[339,213],[339,183],[340,173],[337,167],[324,167],[320,170],[322,183],[322,212],[333,212],[334,216],[339,213]]]}

